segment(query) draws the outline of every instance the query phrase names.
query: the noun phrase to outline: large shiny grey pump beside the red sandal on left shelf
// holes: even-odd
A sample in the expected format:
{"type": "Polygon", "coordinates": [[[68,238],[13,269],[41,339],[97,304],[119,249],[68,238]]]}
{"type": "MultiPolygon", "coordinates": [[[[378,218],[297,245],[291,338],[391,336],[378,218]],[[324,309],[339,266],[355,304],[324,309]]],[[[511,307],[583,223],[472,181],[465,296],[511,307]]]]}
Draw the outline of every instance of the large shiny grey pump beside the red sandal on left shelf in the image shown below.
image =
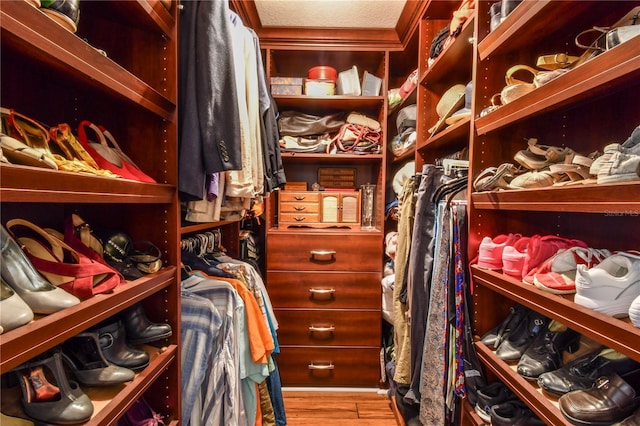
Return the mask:
{"type": "Polygon", "coordinates": [[[0,226],[2,278],[38,314],[51,314],[75,306],[80,300],[45,280],[18,243],[0,226]]]}

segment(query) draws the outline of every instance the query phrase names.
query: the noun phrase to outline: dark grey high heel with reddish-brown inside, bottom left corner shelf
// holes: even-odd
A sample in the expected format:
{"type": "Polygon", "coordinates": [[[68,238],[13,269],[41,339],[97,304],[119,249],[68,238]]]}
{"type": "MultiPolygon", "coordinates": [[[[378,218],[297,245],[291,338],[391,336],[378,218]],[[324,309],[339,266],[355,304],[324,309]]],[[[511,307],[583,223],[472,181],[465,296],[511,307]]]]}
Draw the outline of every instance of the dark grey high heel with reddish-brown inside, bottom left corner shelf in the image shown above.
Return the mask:
{"type": "Polygon", "coordinates": [[[29,417],[54,424],[78,424],[91,418],[93,404],[76,382],[67,379],[59,353],[13,371],[18,375],[22,406],[29,417]],[[49,381],[51,378],[55,383],[49,381]]]}

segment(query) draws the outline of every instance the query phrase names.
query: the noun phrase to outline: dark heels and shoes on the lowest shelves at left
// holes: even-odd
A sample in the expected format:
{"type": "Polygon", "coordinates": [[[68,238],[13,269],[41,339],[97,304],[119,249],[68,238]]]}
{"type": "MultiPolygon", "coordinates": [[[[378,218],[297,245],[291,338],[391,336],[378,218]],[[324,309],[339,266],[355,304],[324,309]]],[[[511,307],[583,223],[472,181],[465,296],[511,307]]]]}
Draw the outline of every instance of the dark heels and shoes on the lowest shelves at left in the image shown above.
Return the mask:
{"type": "MultiPolygon", "coordinates": [[[[171,326],[154,323],[135,304],[97,326],[14,368],[22,408],[30,419],[46,424],[84,423],[93,415],[91,399],[81,386],[104,387],[130,382],[149,364],[136,345],[171,336],[171,326]]],[[[4,380],[10,383],[10,378],[4,380]]],[[[122,425],[162,425],[162,418],[140,399],[121,419],[122,425]]]]}

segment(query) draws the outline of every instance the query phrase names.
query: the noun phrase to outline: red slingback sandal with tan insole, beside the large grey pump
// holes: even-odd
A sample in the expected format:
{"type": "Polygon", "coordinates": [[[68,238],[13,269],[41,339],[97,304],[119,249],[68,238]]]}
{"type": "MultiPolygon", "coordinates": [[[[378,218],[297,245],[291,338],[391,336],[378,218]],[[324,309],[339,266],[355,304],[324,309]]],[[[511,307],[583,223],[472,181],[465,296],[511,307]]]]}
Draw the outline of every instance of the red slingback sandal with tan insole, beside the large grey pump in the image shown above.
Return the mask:
{"type": "Polygon", "coordinates": [[[33,223],[12,219],[6,224],[14,234],[12,229],[18,226],[33,231],[29,236],[16,240],[24,246],[24,252],[33,266],[53,285],[85,300],[96,294],[111,292],[120,284],[120,277],[112,268],[79,253],[33,223]]]}

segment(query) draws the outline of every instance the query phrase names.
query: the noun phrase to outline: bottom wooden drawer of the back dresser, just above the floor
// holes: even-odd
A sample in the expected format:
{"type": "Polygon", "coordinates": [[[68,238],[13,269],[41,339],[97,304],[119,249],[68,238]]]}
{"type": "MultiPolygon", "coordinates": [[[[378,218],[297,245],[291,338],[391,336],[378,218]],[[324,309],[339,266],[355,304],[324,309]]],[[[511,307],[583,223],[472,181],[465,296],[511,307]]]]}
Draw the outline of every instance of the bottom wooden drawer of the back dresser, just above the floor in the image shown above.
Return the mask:
{"type": "Polygon", "coordinates": [[[380,381],[379,348],[280,347],[282,386],[376,387],[380,381]]]}

